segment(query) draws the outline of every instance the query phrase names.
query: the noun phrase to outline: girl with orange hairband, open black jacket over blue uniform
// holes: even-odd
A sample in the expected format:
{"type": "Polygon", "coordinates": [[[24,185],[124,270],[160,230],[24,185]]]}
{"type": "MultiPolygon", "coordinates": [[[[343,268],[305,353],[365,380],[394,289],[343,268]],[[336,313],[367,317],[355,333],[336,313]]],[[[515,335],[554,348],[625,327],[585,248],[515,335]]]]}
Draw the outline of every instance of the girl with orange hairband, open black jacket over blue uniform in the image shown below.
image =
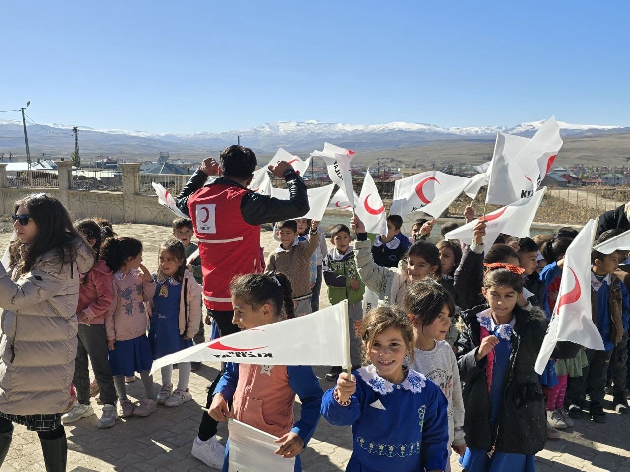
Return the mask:
{"type": "Polygon", "coordinates": [[[534,364],[547,329],[544,312],[517,300],[523,269],[484,264],[481,289],[488,305],[462,313],[455,342],[464,385],[468,472],[534,472],[546,438],[546,412],[534,364]]]}

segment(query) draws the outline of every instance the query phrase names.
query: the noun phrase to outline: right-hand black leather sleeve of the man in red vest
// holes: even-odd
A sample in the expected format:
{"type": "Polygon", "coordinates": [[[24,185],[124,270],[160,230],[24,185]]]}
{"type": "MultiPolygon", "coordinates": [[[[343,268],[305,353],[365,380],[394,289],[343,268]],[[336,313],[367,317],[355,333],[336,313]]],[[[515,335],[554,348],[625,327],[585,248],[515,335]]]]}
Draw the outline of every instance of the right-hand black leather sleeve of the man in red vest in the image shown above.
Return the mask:
{"type": "Polygon", "coordinates": [[[306,215],[309,211],[309,199],[302,177],[290,174],[287,177],[287,186],[289,186],[288,200],[259,195],[255,192],[246,194],[241,201],[243,220],[250,225],[263,225],[293,220],[306,215]]]}

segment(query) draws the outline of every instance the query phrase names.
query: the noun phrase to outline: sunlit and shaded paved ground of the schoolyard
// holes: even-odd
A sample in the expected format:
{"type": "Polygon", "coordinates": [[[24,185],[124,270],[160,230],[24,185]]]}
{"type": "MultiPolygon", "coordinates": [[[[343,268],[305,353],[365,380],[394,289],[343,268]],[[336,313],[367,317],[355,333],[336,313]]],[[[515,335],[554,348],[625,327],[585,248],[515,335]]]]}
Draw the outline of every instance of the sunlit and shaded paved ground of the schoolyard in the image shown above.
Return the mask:
{"type": "MultiPolygon", "coordinates": [[[[138,237],[144,242],[144,259],[149,269],[157,264],[157,245],[169,236],[169,228],[149,225],[120,225],[120,235],[138,237]]],[[[8,241],[8,234],[0,235],[0,247],[8,241]]],[[[263,244],[272,247],[269,233],[263,233],[263,244]]],[[[325,299],[325,291],[323,294],[325,299]]],[[[325,300],[322,300],[325,301],[325,300]]],[[[323,306],[325,306],[323,304],[323,306]]],[[[193,372],[190,390],[193,401],[178,408],[158,407],[151,417],[119,419],[106,430],[96,427],[97,417],[79,420],[67,427],[69,439],[68,471],[210,471],[190,456],[190,447],[197,434],[200,407],[205,404],[205,387],[217,374],[218,364],[204,364],[193,372]]],[[[333,384],[323,379],[328,368],[315,368],[325,390],[333,384]]],[[[177,372],[177,371],[175,371],[177,372]]],[[[177,374],[174,374],[173,383],[177,374]]],[[[154,378],[156,391],[160,376],[154,378]]],[[[128,386],[130,398],[142,398],[140,379],[128,386]]],[[[610,400],[610,397],[607,397],[610,400]]],[[[92,406],[100,414],[100,405],[92,399],[92,406]]],[[[608,403],[607,407],[611,405],[608,403]]],[[[296,404],[299,415],[299,404],[296,404]]],[[[590,420],[576,422],[575,429],[564,432],[560,439],[547,442],[544,451],[537,454],[538,472],[630,472],[630,415],[622,416],[607,410],[608,423],[595,424],[590,420]]],[[[219,437],[223,440],[227,427],[221,425],[219,437]]],[[[302,454],[306,472],[329,472],[345,469],[350,458],[352,437],[349,427],[333,427],[321,420],[309,447],[302,454]]],[[[454,459],[453,471],[461,470],[454,459]]],[[[2,472],[40,472],[44,470],[42,452],[37,434],[17,426],[9,455],[2,472]]],[[[260,471],[266,472],[266,471],[260,471]]]]}

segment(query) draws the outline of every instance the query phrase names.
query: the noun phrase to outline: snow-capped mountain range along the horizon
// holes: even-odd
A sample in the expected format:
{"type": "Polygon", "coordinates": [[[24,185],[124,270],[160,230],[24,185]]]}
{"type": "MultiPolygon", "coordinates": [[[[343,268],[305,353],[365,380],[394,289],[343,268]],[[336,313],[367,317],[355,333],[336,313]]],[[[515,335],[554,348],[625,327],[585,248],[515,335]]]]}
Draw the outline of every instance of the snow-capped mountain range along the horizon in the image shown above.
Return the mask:
{"type": "MultiPolygon", "coordinates": [[[[221,150],[236,141],[256,151],[273,152],[279,146],[293,151],[320,149],[324,141],[355,150],[380,150],[421,145],[435,140],[493,140],[496,132],[507,132],[524,136],[533,135],[544,121],[520,123],[506,126],[451,127],[394,121],[382,125],[353,125],[346,123],[323,123],[316,120],[276,121],[255,128],[232,130],[220,133],[150,133],[120,129],[95,129],[78,126],[81,132],[81,148],[115,154],[117,152],[150,152],[152,150],[221,150]],[[135,151],[131,150],[136,149],[135,151]]],[[[573,125],[558,121],[561,135],[590,135],[619,132],[619,126],[573,125]]],[[[31,147],[55,150],[67,147],[72,139],[70,125],[52,123],[27,125],[31,147]],[[67,131],[67,133],[63,133],[67,131]]],[[[23,146],[22,123],[19,120],[0,120],[0,152],[23,146]]]]}

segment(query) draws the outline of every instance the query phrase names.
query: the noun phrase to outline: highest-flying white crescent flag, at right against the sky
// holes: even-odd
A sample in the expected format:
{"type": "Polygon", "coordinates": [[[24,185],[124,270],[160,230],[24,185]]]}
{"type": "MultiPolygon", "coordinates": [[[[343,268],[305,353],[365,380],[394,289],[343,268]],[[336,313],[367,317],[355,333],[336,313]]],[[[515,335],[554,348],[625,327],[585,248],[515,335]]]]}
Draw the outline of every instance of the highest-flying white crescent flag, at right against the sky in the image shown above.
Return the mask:
{"type": "Polygon", "coordinates": [[[562,146],[553,116],[531,138],[496,133],[486,203],[512,205],[532,198],[562,146]]]}

